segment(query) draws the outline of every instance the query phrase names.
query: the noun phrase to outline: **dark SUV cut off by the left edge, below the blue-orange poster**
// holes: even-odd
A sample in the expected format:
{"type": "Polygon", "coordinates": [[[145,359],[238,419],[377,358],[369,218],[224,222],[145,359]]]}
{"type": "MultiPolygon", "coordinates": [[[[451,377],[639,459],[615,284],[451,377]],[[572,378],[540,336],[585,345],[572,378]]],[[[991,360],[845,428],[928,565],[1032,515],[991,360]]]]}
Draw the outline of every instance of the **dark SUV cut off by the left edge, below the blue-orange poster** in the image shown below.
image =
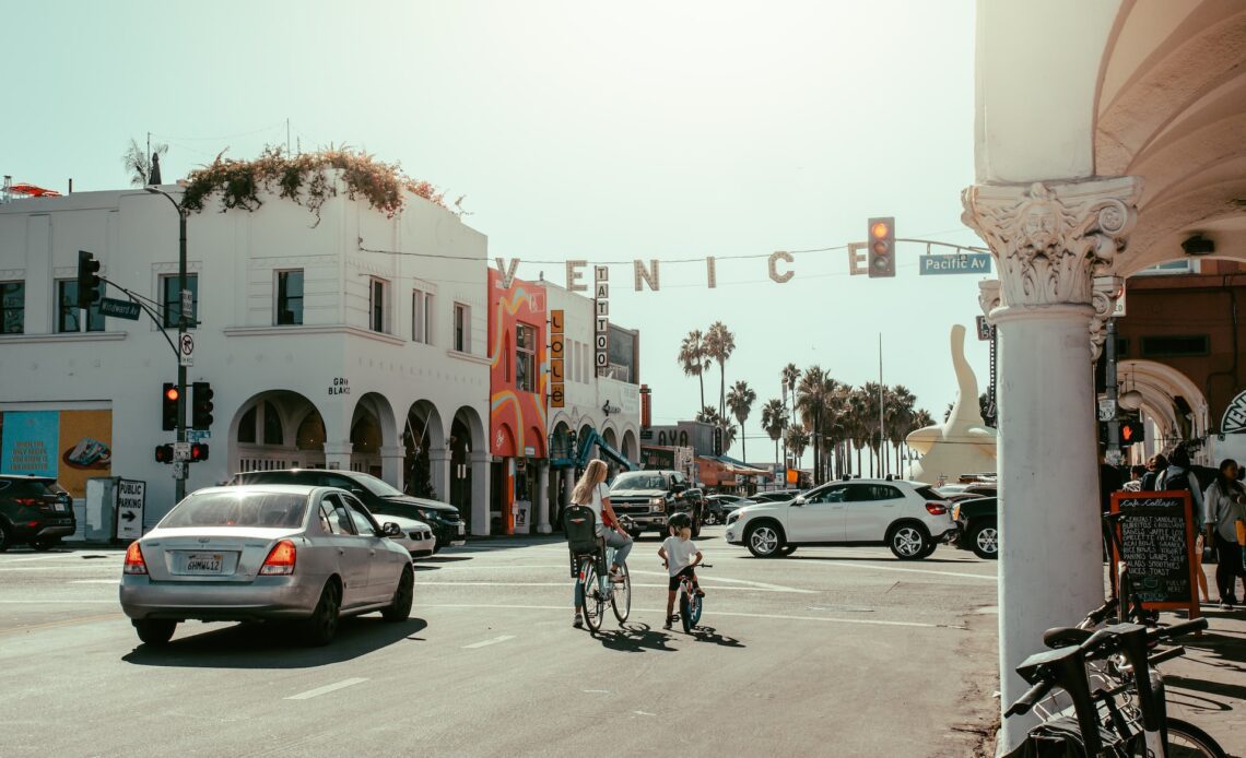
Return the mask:
{"type": "Polygon", "coordinates": [[[76,529],[74,503],[56,479],[0,474],[0,553],[15,543],[49,550],[76,529]]]}

